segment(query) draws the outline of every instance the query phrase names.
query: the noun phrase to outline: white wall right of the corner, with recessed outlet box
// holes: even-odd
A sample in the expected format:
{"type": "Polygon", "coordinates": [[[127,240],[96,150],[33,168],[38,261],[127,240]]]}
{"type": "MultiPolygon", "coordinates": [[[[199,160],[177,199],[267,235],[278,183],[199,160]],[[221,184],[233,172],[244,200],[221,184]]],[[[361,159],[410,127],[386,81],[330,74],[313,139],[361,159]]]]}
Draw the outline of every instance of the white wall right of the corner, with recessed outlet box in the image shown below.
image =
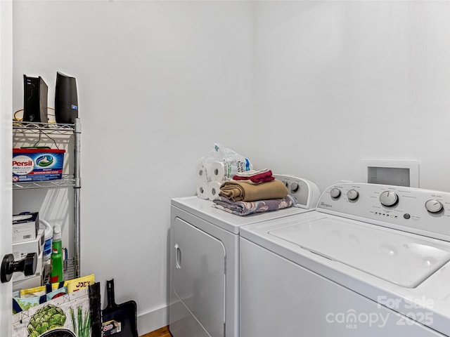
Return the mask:
{"type": "Polygon", "coordinates": [[[321,190],[360,159],[417,159],[450,191],[449,1],[261,1],[255,107],[262,166],[321,190]]]}

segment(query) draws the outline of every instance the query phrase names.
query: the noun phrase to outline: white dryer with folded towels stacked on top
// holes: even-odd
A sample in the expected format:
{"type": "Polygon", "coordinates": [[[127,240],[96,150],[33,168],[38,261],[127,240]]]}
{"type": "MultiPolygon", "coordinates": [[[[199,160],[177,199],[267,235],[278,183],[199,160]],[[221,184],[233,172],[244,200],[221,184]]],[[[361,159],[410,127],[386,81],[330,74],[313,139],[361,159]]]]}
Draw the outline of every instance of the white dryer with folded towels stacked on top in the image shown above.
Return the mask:
{"type": "Polygon", "coordinates": [[[173,337],[239,336],[240,227],[311,211],[320,197],[319,188],[309,180],[276,178],[287,185],[297,207],[236,216],[198,197],[172,199],[169,330],[173,337]]]}

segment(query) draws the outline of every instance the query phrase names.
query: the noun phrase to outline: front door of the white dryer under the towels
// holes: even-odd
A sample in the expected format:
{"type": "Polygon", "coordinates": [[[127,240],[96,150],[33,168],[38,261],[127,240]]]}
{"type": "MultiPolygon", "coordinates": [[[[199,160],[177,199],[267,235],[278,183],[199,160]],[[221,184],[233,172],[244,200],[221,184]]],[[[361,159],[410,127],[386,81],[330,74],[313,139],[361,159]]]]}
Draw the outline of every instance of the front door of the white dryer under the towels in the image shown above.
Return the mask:
{"type": "Polygon", "coordinates": [[[224,336],[224,245],[210,234],[174,221],[174,291],[210,336],[224,336]]]}

